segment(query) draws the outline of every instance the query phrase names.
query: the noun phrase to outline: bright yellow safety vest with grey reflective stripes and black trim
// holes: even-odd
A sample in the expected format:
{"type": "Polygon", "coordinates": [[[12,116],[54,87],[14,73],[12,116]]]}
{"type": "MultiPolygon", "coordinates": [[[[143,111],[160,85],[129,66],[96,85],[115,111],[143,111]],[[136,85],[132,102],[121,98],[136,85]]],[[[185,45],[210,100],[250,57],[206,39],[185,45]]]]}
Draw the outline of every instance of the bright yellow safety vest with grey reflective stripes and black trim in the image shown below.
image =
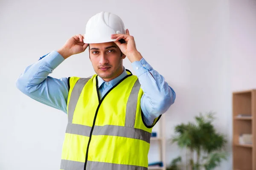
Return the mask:
{"type": "Polygon", "coordinates": [[[147,126],[142,118],[140,82],[126,71],[128,75],[102,99],[97,75],[69,78],[61,170],[148,169],[153,125],[147,126]]]}

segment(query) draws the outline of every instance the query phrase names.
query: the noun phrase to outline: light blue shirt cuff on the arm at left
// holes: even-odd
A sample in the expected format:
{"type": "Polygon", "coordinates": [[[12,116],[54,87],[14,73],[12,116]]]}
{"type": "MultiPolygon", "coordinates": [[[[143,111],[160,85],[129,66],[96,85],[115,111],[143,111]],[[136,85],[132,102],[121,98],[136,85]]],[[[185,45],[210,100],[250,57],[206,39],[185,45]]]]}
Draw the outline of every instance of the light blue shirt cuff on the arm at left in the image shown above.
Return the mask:
{"type": "Polygon", "coordinates": [[[42,58],[44,62],[47,62],[49,65],[52,66],[52,69],[58,67],[65,59],[59,54],[57,51],[52,51],[47,54],[44,58],[42,58]]]}

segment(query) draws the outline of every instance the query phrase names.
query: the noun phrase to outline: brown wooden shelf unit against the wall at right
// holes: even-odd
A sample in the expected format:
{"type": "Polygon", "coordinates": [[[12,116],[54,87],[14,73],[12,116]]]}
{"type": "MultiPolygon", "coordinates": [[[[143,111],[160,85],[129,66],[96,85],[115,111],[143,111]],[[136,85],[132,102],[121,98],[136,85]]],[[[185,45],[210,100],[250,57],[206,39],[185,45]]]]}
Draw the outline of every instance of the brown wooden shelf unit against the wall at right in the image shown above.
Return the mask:
{"type": "Polygon", "coordinates": [[[256,170],[256,90],[233,92],[233,169],[256,170]],[[239,116],[239,115],[247,116],[239,116]],[[239,135],[249,133],[252,144],[239,144],[239,135]]]}

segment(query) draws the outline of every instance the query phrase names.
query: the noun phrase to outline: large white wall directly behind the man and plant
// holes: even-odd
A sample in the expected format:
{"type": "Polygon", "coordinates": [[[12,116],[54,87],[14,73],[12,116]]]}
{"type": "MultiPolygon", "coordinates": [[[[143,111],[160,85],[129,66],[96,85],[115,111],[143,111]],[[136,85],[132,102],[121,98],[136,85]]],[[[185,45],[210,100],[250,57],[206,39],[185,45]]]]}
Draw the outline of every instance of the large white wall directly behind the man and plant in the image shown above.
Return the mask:
{"type": "MultiPolygon", "coordinates": [[[[73,34],[83,34],[87,20],[99,11],[122,17],[143,57],[175,89],[176,102],[166,113],[167,137],[175,125],[215,111],[216,128],[230,140],[230,82],[235,78],[230,71],[229,8],[228,0],[1,1],[0,170],[59,168],[67,116],[23,95],[15,81],[27,65],[73,34]]],[[[90,76],[87,53],[70,57],[51,76],[90,76]]],[[[127,59],[124,64],[133,71],[127,59]]],[[[152,148],[150,161],[157,157],[152,148]]],[[[168,145],[169,161],[179,154],[176,145],[168,145]]],[[[228,159],[217,169],[231,167],[228,159]]]]}

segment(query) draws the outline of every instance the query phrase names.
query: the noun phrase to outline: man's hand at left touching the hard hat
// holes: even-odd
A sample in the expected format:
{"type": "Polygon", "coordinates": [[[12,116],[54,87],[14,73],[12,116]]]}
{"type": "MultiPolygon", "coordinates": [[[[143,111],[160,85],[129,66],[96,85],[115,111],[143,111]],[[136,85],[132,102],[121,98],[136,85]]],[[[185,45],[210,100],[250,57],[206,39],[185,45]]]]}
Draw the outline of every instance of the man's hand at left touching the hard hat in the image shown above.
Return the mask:
{"type": "Polygon", "coordinates": [[[72,56],[73,54],[79,54],[84,52],[88,47],[88,44],[83,42],[84,37],[81,34],[76,34],[66,41],[66,43],[58,50],[58,53],[64,59],[72,56]]]}

